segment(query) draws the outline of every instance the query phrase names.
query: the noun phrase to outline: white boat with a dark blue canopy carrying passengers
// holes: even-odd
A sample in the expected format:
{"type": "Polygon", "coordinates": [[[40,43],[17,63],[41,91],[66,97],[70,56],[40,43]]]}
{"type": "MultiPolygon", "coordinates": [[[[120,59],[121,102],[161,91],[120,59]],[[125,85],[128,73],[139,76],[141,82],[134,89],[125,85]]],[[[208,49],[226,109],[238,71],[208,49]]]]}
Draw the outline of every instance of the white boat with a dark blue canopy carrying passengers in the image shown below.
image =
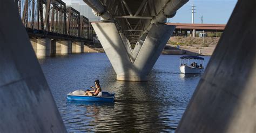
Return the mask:
{"type": "Polygon", "coordinates": [[[204,72],[203,61],[204,61],[204,58],[199,56],[182,56],[180,57],[180,67],[179,67],[180,72],[185,74],[204,72]],[[198,65],[196,60],[201,61],[201,64],[198,65]]]}

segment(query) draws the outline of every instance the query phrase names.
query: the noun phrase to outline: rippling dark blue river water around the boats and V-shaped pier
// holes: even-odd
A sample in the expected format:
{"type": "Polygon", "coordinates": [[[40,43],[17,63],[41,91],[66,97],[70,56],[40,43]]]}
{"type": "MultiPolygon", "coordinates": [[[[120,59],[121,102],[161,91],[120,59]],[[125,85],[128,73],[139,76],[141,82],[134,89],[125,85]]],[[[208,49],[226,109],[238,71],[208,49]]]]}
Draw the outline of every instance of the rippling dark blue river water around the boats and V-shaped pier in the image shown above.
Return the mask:
{"type": "MultiPolygon", "coordinates": [[[[160,55],[148,82],[116,80],[105,53],[38,58],[68,132],[173,132],[199,82],[179,71],[179,55],[160,55]],[[114,104],[70,102],[66,94],[89,89],[95,79],[115,92],[114,104]]],[[[210,56],[204,56],[206,65],[210,56]]]]}

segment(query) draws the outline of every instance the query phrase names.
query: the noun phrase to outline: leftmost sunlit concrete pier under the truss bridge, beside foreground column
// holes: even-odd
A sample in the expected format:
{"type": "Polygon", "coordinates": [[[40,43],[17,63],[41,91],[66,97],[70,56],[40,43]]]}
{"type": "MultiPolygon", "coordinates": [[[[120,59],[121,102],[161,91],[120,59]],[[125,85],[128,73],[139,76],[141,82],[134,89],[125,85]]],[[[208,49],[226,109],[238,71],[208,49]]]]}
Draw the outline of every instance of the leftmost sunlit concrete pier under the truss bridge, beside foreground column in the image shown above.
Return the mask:
{"type": "Polygon", "coordinates": [[[51,40],[49,38],[30,39],[30,42],[37,56],[50,56],[51,40]]]}

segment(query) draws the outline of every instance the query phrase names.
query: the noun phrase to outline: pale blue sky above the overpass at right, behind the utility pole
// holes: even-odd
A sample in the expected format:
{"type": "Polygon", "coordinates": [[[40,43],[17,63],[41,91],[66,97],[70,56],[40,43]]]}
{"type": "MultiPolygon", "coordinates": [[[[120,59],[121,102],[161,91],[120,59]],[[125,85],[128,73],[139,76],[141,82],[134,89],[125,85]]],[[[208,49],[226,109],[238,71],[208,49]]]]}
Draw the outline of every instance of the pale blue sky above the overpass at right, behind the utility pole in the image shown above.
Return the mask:
{"type": "Polygon", "coordinates": [[[167,21],[191,23],[191,6],[194,4],[195,24],[201,24],[201,16],[203,16],[203,24],[227,24],[236,3],[237,0],[190,0],[177,11],[176,16],[167,21]]]}

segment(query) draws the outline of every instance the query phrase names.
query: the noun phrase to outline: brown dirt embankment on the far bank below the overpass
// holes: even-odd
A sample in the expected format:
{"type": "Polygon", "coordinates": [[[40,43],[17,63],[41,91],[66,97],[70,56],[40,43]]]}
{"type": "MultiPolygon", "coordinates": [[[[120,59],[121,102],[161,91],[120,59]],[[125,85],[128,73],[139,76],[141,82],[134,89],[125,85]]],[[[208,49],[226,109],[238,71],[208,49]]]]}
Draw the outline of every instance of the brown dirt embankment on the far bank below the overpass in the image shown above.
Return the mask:
{"type": "Polygon", "coordinates": [[[165,49],[173,49],[177,46],[185,55],[212,55],[219,38],[216,37],[181,37],[172,36],[167,42],[165,49]],[[204,45],[203,45],[204,42],[204,45]]]}

